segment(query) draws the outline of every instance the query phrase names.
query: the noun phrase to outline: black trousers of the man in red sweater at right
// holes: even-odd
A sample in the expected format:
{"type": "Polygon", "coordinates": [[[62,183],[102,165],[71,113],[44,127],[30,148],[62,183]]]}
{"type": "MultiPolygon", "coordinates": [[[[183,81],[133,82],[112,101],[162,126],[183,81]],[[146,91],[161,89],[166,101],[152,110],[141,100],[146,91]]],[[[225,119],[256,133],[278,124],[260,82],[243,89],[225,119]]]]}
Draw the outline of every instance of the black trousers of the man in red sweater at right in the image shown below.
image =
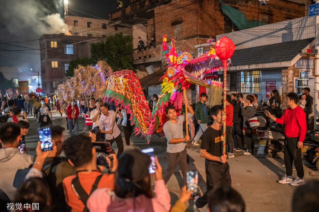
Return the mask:
{"type": "Polygon", "coordinates": [[[301,160],[301,148],[298,149],[297,147],[298,140],[298,137],[286,137],[284,142],[284,161],[287,176],[293,176],[294,163],[297,171],[297,176],[302,179],[305,174],[303,171],[303,165],[301,160]]]}

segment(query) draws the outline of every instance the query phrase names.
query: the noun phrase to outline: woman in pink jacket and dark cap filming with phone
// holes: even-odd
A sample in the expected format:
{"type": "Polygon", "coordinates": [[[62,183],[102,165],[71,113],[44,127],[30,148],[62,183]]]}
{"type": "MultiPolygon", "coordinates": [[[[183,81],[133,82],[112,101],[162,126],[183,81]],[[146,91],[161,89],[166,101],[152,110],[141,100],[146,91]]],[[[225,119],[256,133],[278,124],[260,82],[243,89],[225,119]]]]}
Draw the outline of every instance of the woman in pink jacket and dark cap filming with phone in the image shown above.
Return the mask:
{"type": "Polygon", "coordinates": [[[171,198],[162,178],[162,167],[156,157],[153,197],[151,175],[148,167],[150,157],[137,149],[122,153],[115,174],[114,191],[110,188],[96,189],[87,200],[91,212],[165,212],[171,208],[171,198]]]}

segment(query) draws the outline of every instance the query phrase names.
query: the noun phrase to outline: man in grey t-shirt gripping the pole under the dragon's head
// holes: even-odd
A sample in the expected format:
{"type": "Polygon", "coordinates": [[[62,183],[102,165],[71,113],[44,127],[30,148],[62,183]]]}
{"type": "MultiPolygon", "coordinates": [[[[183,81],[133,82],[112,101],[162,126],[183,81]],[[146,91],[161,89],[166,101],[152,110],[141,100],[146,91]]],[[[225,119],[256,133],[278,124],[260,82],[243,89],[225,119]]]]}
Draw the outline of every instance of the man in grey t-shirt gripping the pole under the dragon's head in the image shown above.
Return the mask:
{"type": "MultiPolygon", "coordinates": [[[[185,106],[189,111],[188,116],[194,115],[193,108],[188,105],[188,100],[184,101],[185,106]]],[[[183,135],[183,122],[185,121],[186,115],[176,116],[174,106],[167,106],[165,113],[169,120],[164,124],[163,131],[167,138],[167,162],[168,167],[164,174],[165,185],[169,181],[169,178],[174,173],[177,165],[179,164],[182,169],[184,184],[186,185],[186,172],[189,169],[187,163],[187,151],[185,148],[185,141],[188,141],[189,135],[183,135]]]]}

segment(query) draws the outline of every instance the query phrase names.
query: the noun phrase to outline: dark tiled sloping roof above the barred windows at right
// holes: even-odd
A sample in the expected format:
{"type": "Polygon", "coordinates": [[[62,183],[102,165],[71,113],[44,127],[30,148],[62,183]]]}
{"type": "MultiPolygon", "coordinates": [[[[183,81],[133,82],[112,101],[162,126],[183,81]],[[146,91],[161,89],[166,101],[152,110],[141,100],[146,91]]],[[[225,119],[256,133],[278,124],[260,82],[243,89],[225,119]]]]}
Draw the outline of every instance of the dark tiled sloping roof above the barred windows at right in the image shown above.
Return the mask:
{"type": "Polygon", "coordinates": [[[231,66],[254,65],[291,61],[315,38],[294,40],[278,44],[256,46],[234,51],[231,66]]]}

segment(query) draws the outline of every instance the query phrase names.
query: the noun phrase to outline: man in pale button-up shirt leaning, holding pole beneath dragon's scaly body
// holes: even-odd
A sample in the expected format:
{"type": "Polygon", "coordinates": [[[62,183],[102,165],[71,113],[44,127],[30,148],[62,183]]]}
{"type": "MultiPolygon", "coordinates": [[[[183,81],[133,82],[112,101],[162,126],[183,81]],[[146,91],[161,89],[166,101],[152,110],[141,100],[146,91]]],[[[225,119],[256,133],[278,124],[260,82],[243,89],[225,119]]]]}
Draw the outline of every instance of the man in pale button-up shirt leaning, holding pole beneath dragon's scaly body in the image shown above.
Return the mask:
{"type": "Polygon", "coordinates": [[[124,151],[123,139],[121,136],[120,129],[117,127],[116,124],[114,124],[112,129],[115,115],[117,118],[123,117],[119,109],[120,107],[116,107],[116,110],[117,110],[117,114],[116,114],[115,111],[113,110],[108,111],[108,108],[105,105],[101,105],[100,111],[102,113],[102,116],[99,121],[99,127],[100,127],[101,133],[106,133],[105,141],[110,142],[111,146],[114,141],[116,142],[116,145],[118,148],[118,152],[116,155],[117,158],[119,158],[122,152],[124,151]],[[105,127],[105,130],[102,130],[103,126],[105,127]]]}

